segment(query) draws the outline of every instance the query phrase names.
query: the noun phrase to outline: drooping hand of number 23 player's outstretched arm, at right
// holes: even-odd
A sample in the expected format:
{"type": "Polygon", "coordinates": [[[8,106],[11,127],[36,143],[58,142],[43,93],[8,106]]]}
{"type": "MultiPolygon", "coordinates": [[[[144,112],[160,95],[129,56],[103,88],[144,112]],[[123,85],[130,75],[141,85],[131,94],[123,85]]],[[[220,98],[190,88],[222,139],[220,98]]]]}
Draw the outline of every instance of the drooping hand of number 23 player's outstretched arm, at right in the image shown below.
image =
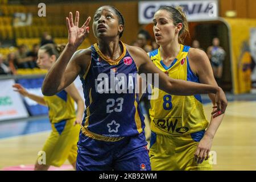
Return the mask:
{"type": "Polygon", "coordinates": [[[215,101],[217,106],[214,106],[213,108],[217,109],[212,112],[212,114],[214,114],[213,118],[216,118],[218,115],[224,114],[226,106],[228,106],[228,101],[226,100],[225,93],[221,88],[216,93],[215,101]]]}

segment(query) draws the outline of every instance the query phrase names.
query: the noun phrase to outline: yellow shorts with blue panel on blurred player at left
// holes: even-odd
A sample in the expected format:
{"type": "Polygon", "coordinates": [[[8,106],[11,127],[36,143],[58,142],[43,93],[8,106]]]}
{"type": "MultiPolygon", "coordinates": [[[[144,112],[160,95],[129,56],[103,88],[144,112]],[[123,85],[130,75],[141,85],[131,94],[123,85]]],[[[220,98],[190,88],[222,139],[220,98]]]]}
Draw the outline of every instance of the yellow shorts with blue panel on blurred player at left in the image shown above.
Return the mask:
{"type": "Polygon", "coordinates": [[[81,127],[73,126],[75,121],[76,119],[69,119],[52,124],[52,132],[42,149],[46,154],[46,165],[60,167],[67,159],[71,164],[76,162],[81,127]]]}

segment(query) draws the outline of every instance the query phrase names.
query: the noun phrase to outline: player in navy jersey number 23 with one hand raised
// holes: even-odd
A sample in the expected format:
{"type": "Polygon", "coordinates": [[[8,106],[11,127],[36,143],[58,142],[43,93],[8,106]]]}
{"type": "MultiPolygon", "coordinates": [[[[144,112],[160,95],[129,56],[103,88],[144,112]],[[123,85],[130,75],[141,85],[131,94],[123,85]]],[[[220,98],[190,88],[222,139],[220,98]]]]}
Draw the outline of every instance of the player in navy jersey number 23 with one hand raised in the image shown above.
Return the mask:
{"type": "Polygon", "coordinates": [[[159,88],[170,94],[216,93],[218,109],[225,111],[226,97],[218,86],[169,78],[141,48],[122,43],[123,16],[112,6],[102,6],[94,14],[97,43],[76,51],[89,34],[89,22],[90,17],[79,28],[79,12],[75,22],[69,13],[68,44],[47,73],[42,88],[44,95],[51,96],[78,75],[81,78],[87,107],[77,143],[77,170],[151,169],[134,73],[158,73],[159,88]],[[120,82],[125,82],[124,92],[118,89],[120,82]]]}

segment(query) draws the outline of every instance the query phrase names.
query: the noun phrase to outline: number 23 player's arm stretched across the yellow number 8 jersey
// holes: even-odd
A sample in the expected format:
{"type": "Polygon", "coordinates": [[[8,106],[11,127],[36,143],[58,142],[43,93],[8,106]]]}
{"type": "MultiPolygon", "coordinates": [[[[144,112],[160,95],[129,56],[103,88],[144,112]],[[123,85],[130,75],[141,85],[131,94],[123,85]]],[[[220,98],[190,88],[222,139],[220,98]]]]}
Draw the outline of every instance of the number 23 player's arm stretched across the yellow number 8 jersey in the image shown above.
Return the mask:
{"type": "MultiPolygon", "coordinates": [[[[138,47],[130,48],[129,52],[133,54],[136,63],[139,67],[139,72],[143,73],[158,73],[159,75],[159,89],[167,92],[169,94],[179,95],[179,96],[190,96],[194,94],[208,94],[216,93],[216,103],[218,110],[217,115],[223,114],[226,110],[226,96],[223,90],[218,86],[198,84],[195,82],[176,80],[168,77],[160,69],[158,69],[154,63],[147,56],[143,49],[138,47]]],[[[154,76],[152,77],[152,84],[154,85],[154,76]]],[[[154,85],[156,86],[156,85],[154,85]]],[[[213,113],[214,114],[214,113],[213,113]]],[[[215,115],[215,116],[217,116],[215,115]]]]}

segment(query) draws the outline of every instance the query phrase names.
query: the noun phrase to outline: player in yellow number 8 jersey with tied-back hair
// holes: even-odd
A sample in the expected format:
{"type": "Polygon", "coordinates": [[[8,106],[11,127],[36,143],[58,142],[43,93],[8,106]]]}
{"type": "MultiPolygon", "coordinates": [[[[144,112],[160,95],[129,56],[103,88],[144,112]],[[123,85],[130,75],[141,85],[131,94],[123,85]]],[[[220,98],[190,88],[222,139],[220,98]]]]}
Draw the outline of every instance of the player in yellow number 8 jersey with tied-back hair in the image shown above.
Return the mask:
{"type": "MultiPolygon", "coordinates": [[[[175,79],[217,86],[206,53],[179,43],[188,33],[187,19],[181,10],[160,7],[153,23],[160,48],[148,55],[156,67],[175,79]]],[[[209,152],[223,118],[221,111],[216,110],[214,94],[209,94],[214,105],[209,124],[200,95],[174,96],[162,90],[158,92],[159,97],[151,100],[150,110],[152,170],[212,169],[209,152]]]]}

